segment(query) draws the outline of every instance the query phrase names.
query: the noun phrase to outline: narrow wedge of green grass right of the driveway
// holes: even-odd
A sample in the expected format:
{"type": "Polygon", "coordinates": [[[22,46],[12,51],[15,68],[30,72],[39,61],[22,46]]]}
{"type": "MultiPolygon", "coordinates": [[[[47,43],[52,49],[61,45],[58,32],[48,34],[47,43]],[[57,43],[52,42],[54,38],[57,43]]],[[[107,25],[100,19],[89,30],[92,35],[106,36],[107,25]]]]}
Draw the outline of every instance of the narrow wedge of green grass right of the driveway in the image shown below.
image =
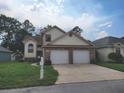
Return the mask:
{"type": "Polygon", "coordinates": [[[119,63],[98,63],[97,65],[124,72],[124,64],[119,63]]]}

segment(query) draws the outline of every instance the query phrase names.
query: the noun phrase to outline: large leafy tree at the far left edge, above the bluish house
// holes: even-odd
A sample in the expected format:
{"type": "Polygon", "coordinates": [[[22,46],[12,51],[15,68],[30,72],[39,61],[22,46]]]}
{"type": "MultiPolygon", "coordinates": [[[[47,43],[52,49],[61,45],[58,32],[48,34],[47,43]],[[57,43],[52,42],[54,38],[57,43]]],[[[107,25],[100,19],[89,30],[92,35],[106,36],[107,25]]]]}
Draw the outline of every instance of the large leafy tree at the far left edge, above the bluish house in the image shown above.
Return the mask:
{"type": "Polygon", "coordinates": [[[21,28],[21,23],[11,17],[0,15],[0,35],[3,39],[2,46],[12,50],[14,42],[14,34],[21,28]]]}

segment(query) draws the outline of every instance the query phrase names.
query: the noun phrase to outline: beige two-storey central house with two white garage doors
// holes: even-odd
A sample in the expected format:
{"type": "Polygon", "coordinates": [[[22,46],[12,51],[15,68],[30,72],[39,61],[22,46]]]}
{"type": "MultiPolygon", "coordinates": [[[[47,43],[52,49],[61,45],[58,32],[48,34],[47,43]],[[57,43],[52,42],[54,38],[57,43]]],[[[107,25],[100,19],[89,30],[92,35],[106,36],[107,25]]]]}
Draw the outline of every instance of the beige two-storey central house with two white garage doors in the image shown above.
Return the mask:
{"type": "Polygon", "coordinates": [[[81,36],[80,28],[75,27],[65,32],[57,26],[49,27],[41,32],[40,40],[33,37],[24,39],[24,58],[36,58],[38,44],[41,44],[40,56],[46,64],[90,63],[95,60],[95,48],[91,42],[81,36]]]}

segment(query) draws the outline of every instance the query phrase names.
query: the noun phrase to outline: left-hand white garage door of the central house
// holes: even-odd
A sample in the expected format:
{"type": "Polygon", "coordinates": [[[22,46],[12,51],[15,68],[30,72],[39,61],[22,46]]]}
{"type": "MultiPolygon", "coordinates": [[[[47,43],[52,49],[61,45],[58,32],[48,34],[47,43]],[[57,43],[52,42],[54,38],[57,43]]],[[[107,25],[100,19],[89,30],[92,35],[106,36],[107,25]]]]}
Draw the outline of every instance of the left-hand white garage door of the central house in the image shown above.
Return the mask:
{"type": "Polygon", "coordinates": [[[51,50],[52,64],[68,64],[69,56],[68,50],[51,50]]]}

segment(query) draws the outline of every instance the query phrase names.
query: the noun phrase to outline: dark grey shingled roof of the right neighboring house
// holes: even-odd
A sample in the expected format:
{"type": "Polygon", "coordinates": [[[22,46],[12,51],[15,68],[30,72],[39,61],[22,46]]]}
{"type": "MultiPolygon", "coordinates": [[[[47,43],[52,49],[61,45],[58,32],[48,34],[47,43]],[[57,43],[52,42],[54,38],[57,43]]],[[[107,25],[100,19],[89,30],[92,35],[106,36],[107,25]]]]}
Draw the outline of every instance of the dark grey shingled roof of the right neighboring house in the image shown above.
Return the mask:
{"type": "Polygon", "coordinates": [[[124,39],[109,36],[109,37],[104,37],[104,38],[95,40],[92,43],[97,48],[101,48],[101,47],[112,47],[113,44],[115,44],[115,43],[122,43],[122,44],[124,44],[124,39]]]}

